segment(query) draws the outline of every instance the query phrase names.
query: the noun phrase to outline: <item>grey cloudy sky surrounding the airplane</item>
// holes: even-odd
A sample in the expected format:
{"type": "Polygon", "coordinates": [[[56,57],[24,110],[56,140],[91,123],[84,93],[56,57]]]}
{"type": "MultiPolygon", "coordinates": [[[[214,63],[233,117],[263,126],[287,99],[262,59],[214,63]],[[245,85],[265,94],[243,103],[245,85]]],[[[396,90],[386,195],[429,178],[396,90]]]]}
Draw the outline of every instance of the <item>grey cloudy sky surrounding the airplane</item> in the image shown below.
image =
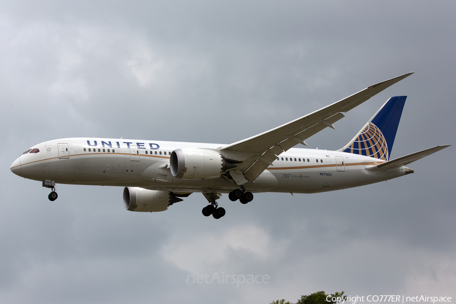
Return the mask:
{"type": "Polygon", "coordinates": [[[0,1],[0,300],[456,299],[454,146],[374,185],[224,196],[220,220],[201,194],[145,214],[122,187],[58,185],[50,202],[9,170],[63,137],[231,143],[410,71],[306,142],[338,149],[407,95],[392,157],[454,144],[455,16],[454,1],[0,1]],[[226,275],[265,280],[187,281],[226,275]]]}

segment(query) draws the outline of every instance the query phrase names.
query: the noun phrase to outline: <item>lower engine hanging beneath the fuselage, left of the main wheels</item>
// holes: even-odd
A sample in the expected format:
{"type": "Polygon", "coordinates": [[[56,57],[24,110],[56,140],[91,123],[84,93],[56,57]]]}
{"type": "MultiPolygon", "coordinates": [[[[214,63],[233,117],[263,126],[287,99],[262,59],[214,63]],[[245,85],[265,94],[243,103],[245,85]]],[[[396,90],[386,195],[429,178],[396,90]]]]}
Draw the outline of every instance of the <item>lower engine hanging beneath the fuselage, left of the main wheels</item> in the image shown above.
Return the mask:
{"type": "Polygon", "coordinates": [[[124,188],[124,206],[129,211],[165,211],[169,205],[182,201],[171,192],[148,190],[140,187],[124,188]]]}

